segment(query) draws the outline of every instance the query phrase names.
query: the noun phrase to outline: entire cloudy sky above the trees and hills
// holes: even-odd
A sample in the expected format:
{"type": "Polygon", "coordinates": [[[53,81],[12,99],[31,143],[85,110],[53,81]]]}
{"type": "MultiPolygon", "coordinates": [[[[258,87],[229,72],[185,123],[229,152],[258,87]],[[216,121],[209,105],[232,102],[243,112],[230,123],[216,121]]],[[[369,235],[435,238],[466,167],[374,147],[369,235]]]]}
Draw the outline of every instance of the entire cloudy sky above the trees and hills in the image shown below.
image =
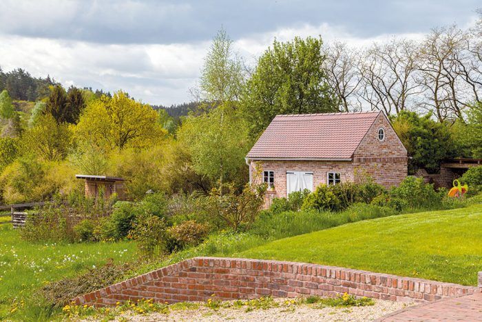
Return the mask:
{"type": "Polygon", "coordinates": [[[223,26],[247,63],[276,37],[321,34],[363,46],[392,35],[470,26],[480,0],[0,0],[0,67],[63,85],[122,89],[146,103],[191,99],[223,26]]]}

